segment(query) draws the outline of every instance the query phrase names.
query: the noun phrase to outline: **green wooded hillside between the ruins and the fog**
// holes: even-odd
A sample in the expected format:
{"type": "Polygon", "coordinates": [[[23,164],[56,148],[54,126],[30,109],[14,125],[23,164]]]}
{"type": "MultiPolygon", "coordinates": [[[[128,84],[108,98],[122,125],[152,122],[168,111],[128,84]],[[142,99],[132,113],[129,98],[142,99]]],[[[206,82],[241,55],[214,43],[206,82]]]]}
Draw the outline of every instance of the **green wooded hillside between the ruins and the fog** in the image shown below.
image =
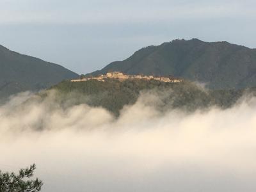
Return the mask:
{"type": "MultiPolygon", "coordinates": [[[[93,107],[106,108],[115,115],[125,105],[134,104],[143,93],[156,96],[159,102],[149,103],[159,110],[180,108],[195,111],[199,108],[218,106],[229,108],[244,93],[244,90],[205,90],[194,83],[164,83],[147,80],[118,81],[108,79],[106,82],[90,80],[82,82],[63,81],[51,90],[56,90],[56,103],[63,107],[88,104],[93,107]]],[[[41,93],[41,95],[43,95],[41,93]]],[[[44,93],[47,96],[47,92],[44,93]]],[[[147,94],[144,95],[147,99],[147,94]]]]}

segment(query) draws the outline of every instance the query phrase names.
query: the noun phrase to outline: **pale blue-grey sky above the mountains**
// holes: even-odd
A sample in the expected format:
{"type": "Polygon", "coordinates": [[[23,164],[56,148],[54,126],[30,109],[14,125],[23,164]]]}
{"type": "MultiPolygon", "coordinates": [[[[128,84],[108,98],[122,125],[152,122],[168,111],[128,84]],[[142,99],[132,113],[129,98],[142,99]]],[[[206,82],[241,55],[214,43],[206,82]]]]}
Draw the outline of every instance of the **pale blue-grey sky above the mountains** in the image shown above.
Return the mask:
{"type": "Polygon", "coordinates": [[[0,0],[0,44],[86,74],[173,39],[256,48],[253,0],[0,0]]]}

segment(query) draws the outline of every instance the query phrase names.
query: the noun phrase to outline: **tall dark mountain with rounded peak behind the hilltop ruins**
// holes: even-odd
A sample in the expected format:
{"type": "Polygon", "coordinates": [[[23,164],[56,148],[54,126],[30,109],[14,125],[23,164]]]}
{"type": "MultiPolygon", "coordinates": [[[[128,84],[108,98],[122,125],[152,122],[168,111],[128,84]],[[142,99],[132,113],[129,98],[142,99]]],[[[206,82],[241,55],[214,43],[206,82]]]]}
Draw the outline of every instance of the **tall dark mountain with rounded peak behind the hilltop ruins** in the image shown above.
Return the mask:
{"type": "Polygon", "coordinates": [[[182,77],[212,89],[246,88],[256,86],[256,49],[195,38],[173,40],[140,49],[87,76],[109,71],[182,77]]]}

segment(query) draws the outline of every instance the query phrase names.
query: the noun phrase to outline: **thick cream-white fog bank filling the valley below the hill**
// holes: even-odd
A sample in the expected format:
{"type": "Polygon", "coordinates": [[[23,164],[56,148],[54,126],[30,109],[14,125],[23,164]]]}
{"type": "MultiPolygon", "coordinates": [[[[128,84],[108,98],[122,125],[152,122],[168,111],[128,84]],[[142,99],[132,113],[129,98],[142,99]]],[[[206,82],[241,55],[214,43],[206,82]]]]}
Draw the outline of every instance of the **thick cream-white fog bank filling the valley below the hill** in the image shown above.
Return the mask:
{"type": "Polygon", "coordinates": [[[0,169],[37,164],[43,191],[255,191],[256,100],[159,111],[141,95],[115,118],[30,93],[0,107],[0,169]]]}

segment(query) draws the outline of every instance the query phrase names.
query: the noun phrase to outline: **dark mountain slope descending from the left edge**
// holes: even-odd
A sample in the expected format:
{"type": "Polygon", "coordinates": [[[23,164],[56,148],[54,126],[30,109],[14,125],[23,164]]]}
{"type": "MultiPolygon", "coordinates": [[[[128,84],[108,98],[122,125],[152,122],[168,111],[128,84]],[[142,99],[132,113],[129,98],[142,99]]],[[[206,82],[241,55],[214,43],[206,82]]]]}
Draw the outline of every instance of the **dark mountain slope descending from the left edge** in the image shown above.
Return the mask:
{"type": "Polygon", "coordinates": [[[79,77],[60,65],[10,51],[2,45],[0,68],[1,99],[27,90],[38,91],[64,79],[79,77]]]}

